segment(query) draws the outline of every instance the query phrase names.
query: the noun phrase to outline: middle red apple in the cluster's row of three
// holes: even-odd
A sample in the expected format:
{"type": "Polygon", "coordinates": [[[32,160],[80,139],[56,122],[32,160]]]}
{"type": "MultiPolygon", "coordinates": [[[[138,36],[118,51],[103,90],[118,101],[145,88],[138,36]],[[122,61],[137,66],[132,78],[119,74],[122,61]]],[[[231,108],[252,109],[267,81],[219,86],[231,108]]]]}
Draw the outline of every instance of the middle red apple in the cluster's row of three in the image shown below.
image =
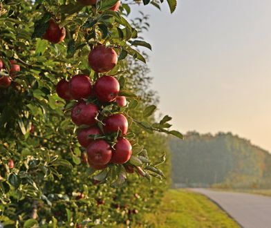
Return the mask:
{"type": "Polygon", "coordinates": [[[88,98],[91,95],[91,79],[88,75],[75,75],[70,81],[70,92],[73,99],[88,98]]]}

